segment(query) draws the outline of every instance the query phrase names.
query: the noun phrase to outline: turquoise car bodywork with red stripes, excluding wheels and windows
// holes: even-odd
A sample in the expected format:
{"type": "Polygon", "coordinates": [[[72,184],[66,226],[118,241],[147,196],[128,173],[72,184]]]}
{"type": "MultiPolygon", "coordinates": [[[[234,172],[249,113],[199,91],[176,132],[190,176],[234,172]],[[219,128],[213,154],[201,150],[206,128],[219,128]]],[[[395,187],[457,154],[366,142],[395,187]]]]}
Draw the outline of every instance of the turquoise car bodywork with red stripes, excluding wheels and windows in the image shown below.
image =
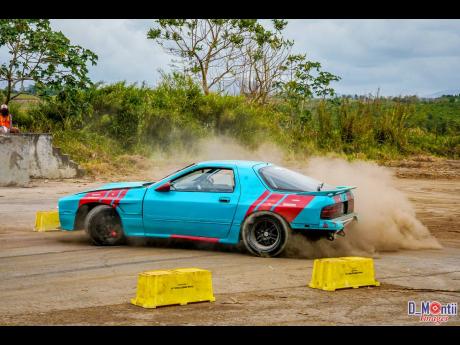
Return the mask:
{"type": "Polygon", "coordinates": [[[354,187],[338,186],[319,192],[272,190],[259,174],[271,163],[260,161],[206,161],[177,171],[157,182],[109,183],[59,200],[64,230],[74,230],[78,209],[83,205],[114,207],[126,236],[173,237],[236,244],[246,217],[273,212],[295,230],[341,231],[356,214],[320,219],[321,209],[353,199],[354,187]],[[233,192],[177,191],[156,189],[197,169],[232,169],[233,192]],[[220,199],[226,198],[227,202],[220,199]]]}

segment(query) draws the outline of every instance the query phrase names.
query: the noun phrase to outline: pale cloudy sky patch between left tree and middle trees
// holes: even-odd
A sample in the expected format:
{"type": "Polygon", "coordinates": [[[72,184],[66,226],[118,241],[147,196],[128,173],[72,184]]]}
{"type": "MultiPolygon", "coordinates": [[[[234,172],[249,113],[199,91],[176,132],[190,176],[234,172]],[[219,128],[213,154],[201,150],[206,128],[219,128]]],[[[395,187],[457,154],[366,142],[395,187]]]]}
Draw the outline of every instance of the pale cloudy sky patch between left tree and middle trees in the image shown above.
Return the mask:
{"type": "Polygon", "coordinates": [[[52,20],[52,27],[62,31],[74,44],[91,49],[98,64],[90,68],[95,81],[128,82],[158,79],[157,69],[167,70],[169,56],[152,40],[147,31],[153,20],[52,20]]]}

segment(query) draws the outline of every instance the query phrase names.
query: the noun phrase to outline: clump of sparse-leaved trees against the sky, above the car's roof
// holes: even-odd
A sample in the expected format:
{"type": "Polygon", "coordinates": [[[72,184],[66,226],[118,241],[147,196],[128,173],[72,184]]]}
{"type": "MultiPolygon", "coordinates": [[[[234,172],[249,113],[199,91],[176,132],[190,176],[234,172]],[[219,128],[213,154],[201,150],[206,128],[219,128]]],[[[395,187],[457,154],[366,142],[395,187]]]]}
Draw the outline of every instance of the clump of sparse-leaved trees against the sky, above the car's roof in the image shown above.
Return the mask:
{"type": "Polygon", "coordinates": [[[294,41],[283,37],[287,24],[279,19],[270,27],[255,19],[158,19],[147,37],[179,58],[181,72],[198,76],[205,95],[234,84],[257,103],[267,103],[275,91],[296,103],[333,95],[331,82],[340,78],[306,54],[291,55],[294,41]]]}

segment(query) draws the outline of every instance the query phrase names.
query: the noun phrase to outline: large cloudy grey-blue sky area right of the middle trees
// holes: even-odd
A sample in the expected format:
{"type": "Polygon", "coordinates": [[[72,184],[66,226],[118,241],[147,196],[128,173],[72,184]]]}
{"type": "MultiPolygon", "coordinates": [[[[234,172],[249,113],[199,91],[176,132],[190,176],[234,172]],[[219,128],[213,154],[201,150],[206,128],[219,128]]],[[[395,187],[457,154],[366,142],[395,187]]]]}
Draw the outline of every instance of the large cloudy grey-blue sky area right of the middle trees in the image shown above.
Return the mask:
{"type": "Polygon", "coordinates": [[[291,20],[287,35],[342,77],[341,93],[459,88],[460,20],[291,20]]]}

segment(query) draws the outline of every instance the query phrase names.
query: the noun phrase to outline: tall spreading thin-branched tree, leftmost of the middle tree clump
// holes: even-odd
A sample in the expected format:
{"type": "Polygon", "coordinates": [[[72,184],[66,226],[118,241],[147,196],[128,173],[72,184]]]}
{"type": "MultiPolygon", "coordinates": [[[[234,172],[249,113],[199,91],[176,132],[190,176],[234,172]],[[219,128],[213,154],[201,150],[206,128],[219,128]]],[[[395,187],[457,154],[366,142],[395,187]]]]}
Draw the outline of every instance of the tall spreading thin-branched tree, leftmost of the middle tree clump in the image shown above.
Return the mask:
{"type": "Polygon", "coordinates": [[[212,87],[223,89],[235,81],[241,47],[256,28],[255,19],[157,19],[147,37],[179,57],[207,95],[212,87]]]}

